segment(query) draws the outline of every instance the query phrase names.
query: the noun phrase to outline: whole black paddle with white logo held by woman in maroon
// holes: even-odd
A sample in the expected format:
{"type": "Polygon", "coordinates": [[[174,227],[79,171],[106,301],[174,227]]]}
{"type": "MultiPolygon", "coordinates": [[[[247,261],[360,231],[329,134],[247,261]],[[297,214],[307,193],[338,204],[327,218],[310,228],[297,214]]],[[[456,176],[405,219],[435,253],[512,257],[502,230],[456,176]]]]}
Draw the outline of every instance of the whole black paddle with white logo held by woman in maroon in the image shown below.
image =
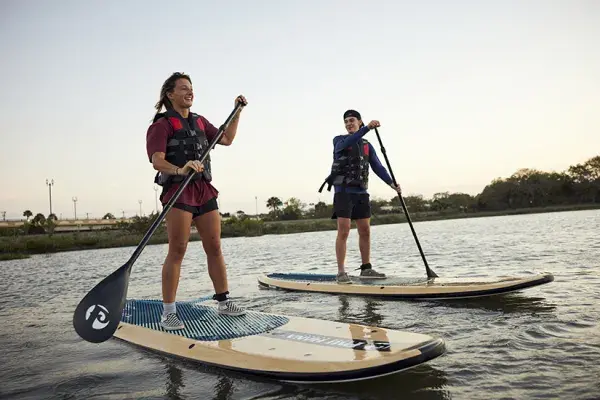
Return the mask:
{"type": "MultiPolygon", "coordinates": [[[[229,117],[227,117],[227,120],[225,120],[225,123],[221,125],[217,131],[217,135],[210,143],[208,149],[206,149],[200,158],[201,163],[204,162],[210,151],[216,146],[219,140],[221,140],[221,136],[223,136],[225,129],[227,129],[233,118],[244,106],[245,104],[242,105],[240,103],[235,106],[231,114],[229,114],[229,117]]],[[[175,201],[177,201],[183,189],[191,181],[194,173],[195,172],[192,172],[186,177],[173,197],[165,204],[162,212],[152,223],[152,226],[144,235],[131,258],[129,258],[121,268],[117,269],[98,283],[79,302],[73,314],[73,327],[81,338],[88,342],[101,343],[108,340],[116,331],[117,326],[121,321],[125,301],[127,300],[127,287],[129,286],[129,275],[131,274],[133,263],[141,254],[148,243],[148,240],[150,240],[154,231],[156,231],[167,215],[167,212],[173,207],[173,204],[175,204],[175,201]]]]}

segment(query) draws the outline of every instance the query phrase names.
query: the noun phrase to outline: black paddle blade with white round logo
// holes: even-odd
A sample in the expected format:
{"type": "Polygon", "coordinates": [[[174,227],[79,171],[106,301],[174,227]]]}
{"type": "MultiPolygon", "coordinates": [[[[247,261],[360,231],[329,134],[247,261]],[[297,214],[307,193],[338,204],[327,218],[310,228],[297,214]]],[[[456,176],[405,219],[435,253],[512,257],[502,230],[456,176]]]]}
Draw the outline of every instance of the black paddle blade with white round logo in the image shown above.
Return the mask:
{"type": "Polygon", "coordinates": [[[121,322],[130,273],[131,266],[123,265],[81,299],[73,314],[73,327],[82,339],[101,343],[112,337],[121,322]]]}

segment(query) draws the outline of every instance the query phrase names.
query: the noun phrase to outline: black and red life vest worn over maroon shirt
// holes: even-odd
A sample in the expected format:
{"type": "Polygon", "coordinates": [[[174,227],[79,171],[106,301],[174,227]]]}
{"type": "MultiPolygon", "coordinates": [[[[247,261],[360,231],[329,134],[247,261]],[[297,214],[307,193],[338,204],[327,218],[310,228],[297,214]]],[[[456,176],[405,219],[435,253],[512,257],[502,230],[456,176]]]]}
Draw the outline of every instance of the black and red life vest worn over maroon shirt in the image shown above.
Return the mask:
{"type": "MultiPolygon", "coordinates": [[[[173,128],[173,136],[169,137],[167,141],[165,160],[180,168],[183,168],[190,160],[200,160],[202,154],[210,146],[200,116],[190,112],[188,118],[185,119],[177,111],[167,110],[164,114],[157,115],[154,118],[154,122],[162,117],[167,118],[173,128]]],[[[192,181],[197,179],[205,179],[208,182],[212,181],[210,155],[206,157],[203,164],[204,171],[201,174],[194,174],[192,181]]],[[[173,183],[182,182],[185,178],[184,175],[169,175],[159,172],[156,174],[154,182],[163,186],[164,192],[173,183]]]]}

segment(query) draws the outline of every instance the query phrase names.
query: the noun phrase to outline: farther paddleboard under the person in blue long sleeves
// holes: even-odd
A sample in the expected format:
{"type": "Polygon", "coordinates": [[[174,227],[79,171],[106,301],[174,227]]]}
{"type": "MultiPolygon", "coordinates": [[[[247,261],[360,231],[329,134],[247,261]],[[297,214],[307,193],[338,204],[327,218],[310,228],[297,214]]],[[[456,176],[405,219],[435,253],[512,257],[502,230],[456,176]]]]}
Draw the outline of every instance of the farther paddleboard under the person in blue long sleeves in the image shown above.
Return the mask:
{"type": "Polygon", "coordinates": [[[515,292],[552,282],[550,273],[497,278],[400,278],[361,279],[339,284],[331,274],[265,273],[258,283],[264,288],[291,291],[378,296],[394,299],[458,299],[515,292]]]}

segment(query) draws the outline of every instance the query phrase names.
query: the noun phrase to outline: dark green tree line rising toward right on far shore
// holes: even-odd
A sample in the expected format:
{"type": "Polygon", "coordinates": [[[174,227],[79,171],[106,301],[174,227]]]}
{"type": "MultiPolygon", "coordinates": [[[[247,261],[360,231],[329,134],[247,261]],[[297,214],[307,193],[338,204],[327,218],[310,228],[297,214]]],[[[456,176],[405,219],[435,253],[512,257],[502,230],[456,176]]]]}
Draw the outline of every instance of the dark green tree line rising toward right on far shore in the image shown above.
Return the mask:
{"type": "MultiPolygon", "coordinates": [[[[522,168],[508,178],[496,178],[481,193],[435,193],[426,199],[422,195],[404,196],[409,213],[413,212],[482,212],[531,207],[591,204],[600,202],[600,156],[572,165],[562,172],[545,172],[522,168]]],[[[266,201],[270,210],[266,220],[296,220],[327,218],[333,205],[325,202],[305,204],[292,197],[285,202],[272,196],[266,201]]],[[[373,214],[402,212],[398,197],[390,200],[373,198],[373,214]]],[[[238,211],[243,217],[243,211],[238,211]]]]}

